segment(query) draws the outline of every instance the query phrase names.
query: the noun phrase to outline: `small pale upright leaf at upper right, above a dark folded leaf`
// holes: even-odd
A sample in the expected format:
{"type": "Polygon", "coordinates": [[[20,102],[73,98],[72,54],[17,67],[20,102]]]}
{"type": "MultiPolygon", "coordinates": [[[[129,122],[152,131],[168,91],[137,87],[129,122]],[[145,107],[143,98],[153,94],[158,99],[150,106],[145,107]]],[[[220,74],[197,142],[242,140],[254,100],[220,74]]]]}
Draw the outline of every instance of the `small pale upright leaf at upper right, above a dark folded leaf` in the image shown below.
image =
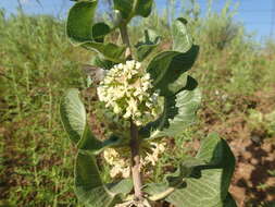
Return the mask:
{"type": "Polygon", "coordinates": [[[187,32],[187,21],[177,19],[172,24],[173,50],[186,52],[192,47],[192,38],[187,32]]]}

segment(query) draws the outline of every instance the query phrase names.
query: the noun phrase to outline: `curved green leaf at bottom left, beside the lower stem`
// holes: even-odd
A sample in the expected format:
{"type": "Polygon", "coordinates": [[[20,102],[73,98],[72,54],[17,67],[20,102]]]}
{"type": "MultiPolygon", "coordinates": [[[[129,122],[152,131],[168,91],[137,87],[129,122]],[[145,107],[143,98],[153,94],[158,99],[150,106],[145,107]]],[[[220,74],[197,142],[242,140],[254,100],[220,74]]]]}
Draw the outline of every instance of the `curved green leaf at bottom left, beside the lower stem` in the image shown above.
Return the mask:
{"type": "Polygon", "coordinates": [[[113,207],[132,191],[130,180],[104,184],[93,156],[78,153],[75,163],[75,193],[86,207],[113,207]]]}

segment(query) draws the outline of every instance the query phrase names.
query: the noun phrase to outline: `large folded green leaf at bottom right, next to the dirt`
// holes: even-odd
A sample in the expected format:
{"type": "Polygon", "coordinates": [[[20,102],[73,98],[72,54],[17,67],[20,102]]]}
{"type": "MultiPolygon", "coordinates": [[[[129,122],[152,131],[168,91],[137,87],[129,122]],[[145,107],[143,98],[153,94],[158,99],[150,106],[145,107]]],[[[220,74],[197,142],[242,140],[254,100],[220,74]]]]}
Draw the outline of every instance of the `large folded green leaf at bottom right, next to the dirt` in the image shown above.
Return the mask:
{"type": "Polygon", "coordinates": [[[217,207],[221,204],[230,207],[234,199],[228,197],[228,186],[235,169],[235,158],[226,142],[216,134],[211,134],[203,139],[195,159],[197,166],[196,161],[191,165],[183,163],[189,173],[178,173],[178,170],[171,175],[172,180],[166,176],[163,183],[149,184],[145,191],[154,197],[166,195],[165,200],[176,207],[217,207]],[[175,185],[175,180],[182,180],[182,183],[175,185]],[[167,190],[170,194],[163,194],[167,190]]]}

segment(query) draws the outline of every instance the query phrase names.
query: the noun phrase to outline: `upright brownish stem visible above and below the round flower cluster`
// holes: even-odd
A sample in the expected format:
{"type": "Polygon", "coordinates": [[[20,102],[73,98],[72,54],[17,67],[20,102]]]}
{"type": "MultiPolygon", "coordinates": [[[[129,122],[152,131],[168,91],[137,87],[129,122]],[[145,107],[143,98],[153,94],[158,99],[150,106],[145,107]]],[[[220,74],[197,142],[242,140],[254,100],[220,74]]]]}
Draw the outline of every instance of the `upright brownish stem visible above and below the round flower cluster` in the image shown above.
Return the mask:
{"type": "MultiPolygon", "coordinates": [[[[128,48],[128,53],[126,52],[126,57],[133,56],[130,50],[130,41],[129,36],[127,33],[127,25],[121,26],[121,36],[123,42],[128,48]]],[[[135,198],[138,200],[142,200],[142,181],[141,181],[141,174],[140,174],[140,155],[139,155],[139,147],[140,147],[140,141],[138,138],[138,127],[137,125],[130,120],[130,170],[132,170],[132,178],[134,182],[134,190],[135,190],[135,198]]]]}

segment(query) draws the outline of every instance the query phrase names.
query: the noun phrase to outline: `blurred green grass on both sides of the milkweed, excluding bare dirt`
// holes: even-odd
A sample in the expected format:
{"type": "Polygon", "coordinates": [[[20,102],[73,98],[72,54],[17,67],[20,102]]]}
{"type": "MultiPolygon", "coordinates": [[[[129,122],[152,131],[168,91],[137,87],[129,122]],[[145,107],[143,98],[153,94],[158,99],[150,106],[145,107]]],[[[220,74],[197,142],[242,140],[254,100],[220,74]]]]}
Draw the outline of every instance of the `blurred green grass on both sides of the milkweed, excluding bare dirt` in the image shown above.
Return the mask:
{"type": "MultiPolygon", "coordinates": [[[[172,166],[167,163],[192,151],[184,146],[202,138],[211,120],[223,123],[240,117],[249,121],[251,108],[257,110],[251,100],[257,93],[274,98],[274,44],[267,41],[259,49],[243,28],[232,22],[230,11],[225,9],[222,14],[209,13],[208,19],[200,19],[198,5],[192,5],[191,12],[183,14],[195,17],[189,20],[190,31],[201,46],[191,72],[203,92],[201,121],[171,144],[174,151],[162,157],[154,181],[172,166]]],[[[167,47],[171,40],[166,19],[172,14],[154,12],[138,26],[133,25],[134,39],[140,26],[148,26],[163,37],[160,50],[167,47]]],[[[51,16],[18,13],[7,19],[3,11],[0,48],[0,206],[80,206],[73,193],[75,150],[60,123],[59,100],[68,87],[84,88],[85,76],[79,68],[90,53],[73,48],[65,37],[64,23],[51,16]]],[[[259,101],[257,105],[265,99],[259,101]]],[[[89,105],[91,111],[92,107],[89,105]]],[[[274,110],[271,105],[262,112],[274,110]]],[[[268,127],[268,123],[261,124],[268,127]]],[[[270,132],[268,137],[274,137],[274,130],[270,132]]],[[[110,179],[108,167],[103,169],[104,179],[110,179]]]]}

